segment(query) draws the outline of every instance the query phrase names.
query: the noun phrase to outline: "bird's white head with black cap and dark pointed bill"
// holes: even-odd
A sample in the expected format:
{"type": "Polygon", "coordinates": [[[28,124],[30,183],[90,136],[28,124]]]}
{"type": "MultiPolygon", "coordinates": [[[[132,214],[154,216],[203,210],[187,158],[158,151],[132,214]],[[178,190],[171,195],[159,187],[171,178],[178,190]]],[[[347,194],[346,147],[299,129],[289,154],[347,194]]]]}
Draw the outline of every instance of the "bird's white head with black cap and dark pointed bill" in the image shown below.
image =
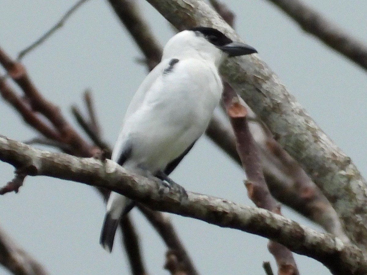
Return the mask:
{"type": "Polygon", "coordinates": [[[164,47],[163,57],[174,55],[200,55],[218,65],[225,57],[253,54],[257,51],[244,43],[234,42],[222,32],[211,27],[194,27],[179,32],[164,47]]]}

